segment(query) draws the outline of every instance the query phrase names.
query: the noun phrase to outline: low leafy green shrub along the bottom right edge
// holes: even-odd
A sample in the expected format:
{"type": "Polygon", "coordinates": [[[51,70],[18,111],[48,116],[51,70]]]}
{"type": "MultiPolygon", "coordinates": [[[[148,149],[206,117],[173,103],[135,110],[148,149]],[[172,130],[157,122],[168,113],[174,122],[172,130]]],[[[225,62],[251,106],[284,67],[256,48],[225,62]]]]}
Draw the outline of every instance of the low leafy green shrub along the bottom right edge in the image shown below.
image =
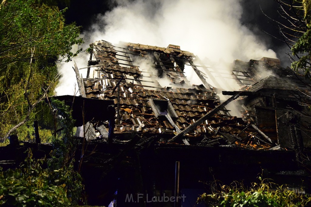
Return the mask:
{"type": "Polygon", "coordinates": [[[295,193],[286,185],[277,186],[274,183],[265,182],[265,180],[262,180],[260,177],[259,179],[260,182],[253,183],[250,189],[243,187],[243,185],[224,185],[217,193],[202,194],[198,198],[197,203],[204,202],[207,206],[223,207],[298,207],[311,205],[310,195],[295,193]]]}

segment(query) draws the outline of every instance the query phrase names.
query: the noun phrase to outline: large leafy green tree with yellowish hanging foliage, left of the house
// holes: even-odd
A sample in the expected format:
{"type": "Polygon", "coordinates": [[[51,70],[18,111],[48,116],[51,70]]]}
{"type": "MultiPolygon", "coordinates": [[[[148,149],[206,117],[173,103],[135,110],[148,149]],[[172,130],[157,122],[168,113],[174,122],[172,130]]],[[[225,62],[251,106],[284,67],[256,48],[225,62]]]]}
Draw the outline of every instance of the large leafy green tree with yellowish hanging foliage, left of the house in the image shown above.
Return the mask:
{"type": "Polygon", "coordinates": [[[56,61],[81,52],[80,28],[65,25],[65,10],[40,0],[2,0],[0,5],[0,140],[17,130],[26,137],[57,84],[56,61]]]}

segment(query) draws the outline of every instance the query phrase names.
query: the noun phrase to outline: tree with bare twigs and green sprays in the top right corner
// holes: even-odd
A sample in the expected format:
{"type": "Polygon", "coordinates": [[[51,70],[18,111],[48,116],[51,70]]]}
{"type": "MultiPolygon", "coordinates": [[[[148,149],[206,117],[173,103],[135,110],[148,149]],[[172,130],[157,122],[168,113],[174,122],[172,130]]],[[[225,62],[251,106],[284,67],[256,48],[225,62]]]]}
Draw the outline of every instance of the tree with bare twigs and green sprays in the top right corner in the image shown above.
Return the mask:
{"type": "Polygon", "coordinates": [[[275,0],[280,5],[281,20],[276,23],[282,42],[286,43],[291,54],[291,68],[299,75],[311,79],[311,1],[275,0]]]}

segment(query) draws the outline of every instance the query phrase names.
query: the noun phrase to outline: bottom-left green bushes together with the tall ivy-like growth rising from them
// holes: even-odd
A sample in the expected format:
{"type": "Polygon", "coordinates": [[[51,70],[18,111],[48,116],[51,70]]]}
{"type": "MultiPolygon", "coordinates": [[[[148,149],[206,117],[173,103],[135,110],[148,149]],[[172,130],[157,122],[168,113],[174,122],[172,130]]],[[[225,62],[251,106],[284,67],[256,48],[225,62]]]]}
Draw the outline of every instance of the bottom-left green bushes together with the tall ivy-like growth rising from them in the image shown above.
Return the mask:
{"type": "Polygon", "coordinates": [[[70,206],[84,201],[82,178],[73,165],[76,149],[70,107],[56,99],[52,99],[51,105],[59,127],[64,128],[52,139],[52,159],[33,160],[29,149],[20,168],[1,172],[0,205],[70,206]]]}

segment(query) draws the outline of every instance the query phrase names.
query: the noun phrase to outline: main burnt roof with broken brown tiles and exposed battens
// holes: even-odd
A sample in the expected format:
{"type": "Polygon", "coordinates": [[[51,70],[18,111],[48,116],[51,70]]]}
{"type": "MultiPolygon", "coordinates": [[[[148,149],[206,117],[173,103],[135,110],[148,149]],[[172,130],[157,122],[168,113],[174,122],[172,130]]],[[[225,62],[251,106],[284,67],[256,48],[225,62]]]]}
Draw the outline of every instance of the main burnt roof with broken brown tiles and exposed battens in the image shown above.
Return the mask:
{"type": "MultiPolygon", "coordinates": [[[[180,50],[179,46],[164,48],[133,43],[113,46],[98,41],[94,43],[93,55],[93,62],[96,61],[94,77],[83,79],[86,97],[114,100],[119,114],[115,125],[117,132],[174,135],[219,105],[210,85],[191,86],[188,83],[183,70],[194,55],[180,50]],[[161,86],[159,79],[165,79],[168,87],[161,86]],[[114,90],[116,87],[118,89],[114,90]]],[[[191,135],[216,131],[220,127],[225,132],[239,133],[239,128],[231,124],[243,121],[229,117],[223,110],[191,135]]]]}

